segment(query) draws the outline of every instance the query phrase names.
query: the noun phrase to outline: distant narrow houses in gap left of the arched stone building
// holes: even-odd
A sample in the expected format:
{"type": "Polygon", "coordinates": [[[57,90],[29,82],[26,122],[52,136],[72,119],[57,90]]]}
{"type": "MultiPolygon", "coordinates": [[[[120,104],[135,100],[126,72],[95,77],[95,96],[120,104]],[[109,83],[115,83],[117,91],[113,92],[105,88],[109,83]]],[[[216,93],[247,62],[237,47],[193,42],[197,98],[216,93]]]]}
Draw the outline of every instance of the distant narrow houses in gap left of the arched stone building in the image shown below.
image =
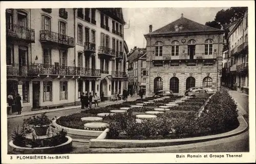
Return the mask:
{"type": "MultiPolygon", "coordinates": [[[[127,57],[128,81],[131,92],[146,89],[146,49],[134,47],[127,57]]],[[[144,92],[145,93],[145,92],[144,92]]]]}

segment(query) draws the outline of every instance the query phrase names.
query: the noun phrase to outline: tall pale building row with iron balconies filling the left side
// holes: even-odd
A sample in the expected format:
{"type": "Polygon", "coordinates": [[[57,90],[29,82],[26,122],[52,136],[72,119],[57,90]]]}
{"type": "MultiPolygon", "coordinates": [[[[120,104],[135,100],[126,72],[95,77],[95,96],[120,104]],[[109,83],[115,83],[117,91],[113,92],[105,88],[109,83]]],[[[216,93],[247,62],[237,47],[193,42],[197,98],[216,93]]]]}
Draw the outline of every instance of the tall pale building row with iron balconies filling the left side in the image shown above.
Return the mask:
{"type": "Polygon", "coordinates": [[[7,94],[26,111],[122,92],[124,23],[121,8],[7,9],[7,94]]]}

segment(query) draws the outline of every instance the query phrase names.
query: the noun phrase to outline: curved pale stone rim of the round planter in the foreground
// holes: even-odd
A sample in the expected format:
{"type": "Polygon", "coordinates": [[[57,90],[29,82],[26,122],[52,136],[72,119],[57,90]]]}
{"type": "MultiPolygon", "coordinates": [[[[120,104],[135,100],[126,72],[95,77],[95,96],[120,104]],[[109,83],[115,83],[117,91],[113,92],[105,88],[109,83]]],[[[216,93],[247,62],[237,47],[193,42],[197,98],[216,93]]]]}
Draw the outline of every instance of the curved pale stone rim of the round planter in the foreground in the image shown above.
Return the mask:
{"type": "Polygon", "coordinates": [[[63,150],[71,150],[72,148],[72,138],[66,136],[68,141],[66,143],[60,144],[58,146],[52,147],[40,147],[40,148],[28,148],[28,147],[19,147],[13,144],[11,140],[9,145],[13,148],[12,152],[14,154],[53,154],[56,152],[61,152],[63,150]]]}

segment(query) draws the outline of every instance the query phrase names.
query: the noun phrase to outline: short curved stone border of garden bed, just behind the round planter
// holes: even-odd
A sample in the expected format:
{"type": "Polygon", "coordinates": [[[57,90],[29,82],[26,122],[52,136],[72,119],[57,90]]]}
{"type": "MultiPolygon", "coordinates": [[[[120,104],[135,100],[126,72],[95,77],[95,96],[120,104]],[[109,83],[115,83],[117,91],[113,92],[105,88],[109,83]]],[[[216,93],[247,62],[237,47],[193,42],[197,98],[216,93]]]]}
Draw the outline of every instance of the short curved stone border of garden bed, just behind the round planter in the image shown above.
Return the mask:
{"type": "Polygon", "coordinates": [[[52,121],[52,125],[55,126],[53,130],[59,131],[61,129],[65,129],[67,130],[67,135],[71,136],[74,139],[95,139],[103,132],[101,130],[73,129],[73,128],[61,126],[56,123],[57,119],[52,121]]]}

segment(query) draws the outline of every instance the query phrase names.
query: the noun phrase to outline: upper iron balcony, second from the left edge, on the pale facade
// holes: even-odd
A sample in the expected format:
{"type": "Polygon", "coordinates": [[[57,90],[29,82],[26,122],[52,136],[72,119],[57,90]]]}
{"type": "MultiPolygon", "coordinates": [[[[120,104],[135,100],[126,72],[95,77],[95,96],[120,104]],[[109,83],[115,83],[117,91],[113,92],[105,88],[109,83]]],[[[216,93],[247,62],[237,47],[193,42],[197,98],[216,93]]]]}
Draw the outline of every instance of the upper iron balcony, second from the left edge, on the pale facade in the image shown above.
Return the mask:
{"type": "Polygon", "coordinates": [[[48,30],[40,31],[40,42],[49,45],[58,44],[68,48],[74,47],[74,38],[48,30]]]}

